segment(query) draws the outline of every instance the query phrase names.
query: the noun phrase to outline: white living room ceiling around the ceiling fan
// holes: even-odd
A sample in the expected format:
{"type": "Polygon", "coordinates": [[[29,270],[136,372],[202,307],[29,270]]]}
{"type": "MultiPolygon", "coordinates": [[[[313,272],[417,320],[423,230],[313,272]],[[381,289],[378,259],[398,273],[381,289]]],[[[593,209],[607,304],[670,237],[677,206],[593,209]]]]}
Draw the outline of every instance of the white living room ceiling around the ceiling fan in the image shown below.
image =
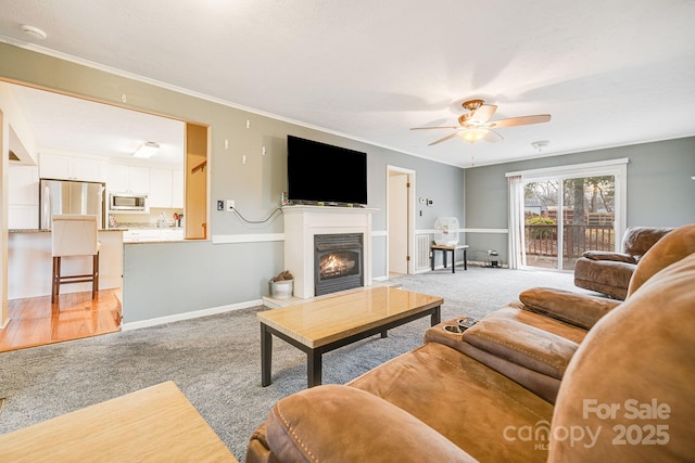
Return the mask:
{"type": "Polygon", "coordinates": [[[2,41],[460,167],[695,136],[693,24],[692,0],[0,0],[2,41]],[[470,98],[552,120],[409,130],[470,98]]]}

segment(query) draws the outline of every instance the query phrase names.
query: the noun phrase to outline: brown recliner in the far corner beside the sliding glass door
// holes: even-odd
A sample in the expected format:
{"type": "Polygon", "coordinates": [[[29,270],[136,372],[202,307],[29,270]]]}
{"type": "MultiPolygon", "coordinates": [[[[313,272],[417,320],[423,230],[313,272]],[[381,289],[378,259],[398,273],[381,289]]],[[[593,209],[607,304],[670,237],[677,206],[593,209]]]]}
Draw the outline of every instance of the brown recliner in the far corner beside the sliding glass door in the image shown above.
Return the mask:
{"type": "Polygon", "coordinates": [[[584,252],[574,266],[574,285],[623,300],[642,256],[671,230],[668,227],[630,227],[622,236],[621,253],[584,252]]]}

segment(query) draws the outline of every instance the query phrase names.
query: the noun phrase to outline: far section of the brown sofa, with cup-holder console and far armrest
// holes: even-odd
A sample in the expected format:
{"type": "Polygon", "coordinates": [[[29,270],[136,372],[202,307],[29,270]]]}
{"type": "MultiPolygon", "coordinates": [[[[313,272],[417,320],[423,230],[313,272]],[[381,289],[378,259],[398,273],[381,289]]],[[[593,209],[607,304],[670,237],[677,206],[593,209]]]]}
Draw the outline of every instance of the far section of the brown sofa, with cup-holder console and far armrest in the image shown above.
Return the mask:
{"type": "MultiPolygon", "coordinates": [[[[695,224],[659,240],[637,261],[626,300],[658,270],[692,253],[695,224]]],[[[555,403],[580,344],[591,327],[620,304],[607,297],[534,287],[463,335],[445,330],[457,326],[457,319],[453,319],[429,329],[425,340],[446,344],[555,403]]]]}

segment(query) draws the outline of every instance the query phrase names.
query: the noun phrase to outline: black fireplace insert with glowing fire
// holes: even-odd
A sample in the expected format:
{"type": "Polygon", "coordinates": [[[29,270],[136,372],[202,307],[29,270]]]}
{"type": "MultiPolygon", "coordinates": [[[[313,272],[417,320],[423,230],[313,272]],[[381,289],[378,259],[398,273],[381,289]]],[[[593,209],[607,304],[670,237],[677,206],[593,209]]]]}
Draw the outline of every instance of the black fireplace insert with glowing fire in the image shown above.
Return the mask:
{"type": "Polygon", "coordinates": [[[363,233],[315,234],[315,295],[364,286],[363,249],[363,233]]]}

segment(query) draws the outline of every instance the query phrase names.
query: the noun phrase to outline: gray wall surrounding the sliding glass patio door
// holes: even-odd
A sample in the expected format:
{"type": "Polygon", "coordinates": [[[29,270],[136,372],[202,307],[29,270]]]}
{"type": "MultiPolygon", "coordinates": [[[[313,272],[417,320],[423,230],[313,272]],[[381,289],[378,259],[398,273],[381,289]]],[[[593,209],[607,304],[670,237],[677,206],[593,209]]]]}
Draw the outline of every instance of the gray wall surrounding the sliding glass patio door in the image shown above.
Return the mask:
{"type": "MultiPolygon", "coordinates": [[[[695,222],[695,138],[597,150],[466,169],[466,227],[506,229],[506,172],[629,158],[627,227],[695,222]]],[[[467,233],[470,249],[497,249],[507,259],[507,234],[467,233]]]]}

